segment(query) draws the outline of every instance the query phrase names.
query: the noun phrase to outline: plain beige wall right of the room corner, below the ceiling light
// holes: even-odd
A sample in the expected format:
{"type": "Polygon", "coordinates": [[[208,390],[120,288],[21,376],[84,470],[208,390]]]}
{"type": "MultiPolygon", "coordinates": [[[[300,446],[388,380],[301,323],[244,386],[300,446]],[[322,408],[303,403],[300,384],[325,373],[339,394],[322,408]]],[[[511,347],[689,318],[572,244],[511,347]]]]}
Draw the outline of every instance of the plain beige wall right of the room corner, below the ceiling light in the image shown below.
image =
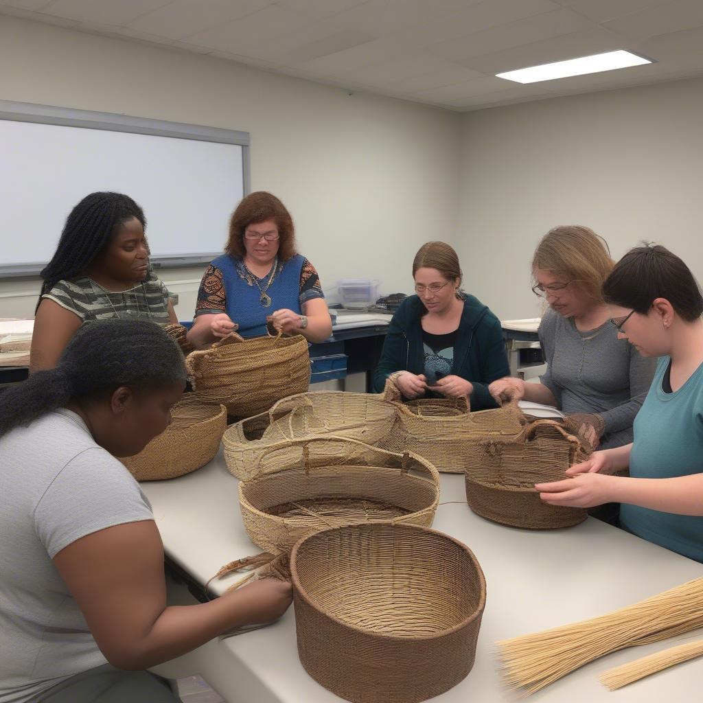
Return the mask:
{"type": "Polygon", "coordinates": [[[619,258],[669,247],[703,280],[703,79],[591,93],[464,116],[458,250],[498,316],[539,314],[534,247],[585,224],[619,258]]]}

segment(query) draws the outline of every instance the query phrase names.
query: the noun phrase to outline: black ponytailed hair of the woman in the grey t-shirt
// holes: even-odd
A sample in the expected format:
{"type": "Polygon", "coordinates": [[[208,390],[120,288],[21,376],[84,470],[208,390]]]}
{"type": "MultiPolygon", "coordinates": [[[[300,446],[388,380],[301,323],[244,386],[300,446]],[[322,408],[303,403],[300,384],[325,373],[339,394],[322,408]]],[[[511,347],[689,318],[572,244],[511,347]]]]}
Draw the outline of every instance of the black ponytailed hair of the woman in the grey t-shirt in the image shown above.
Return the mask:
{"type": "Polygon", "coordinates": [[[0,437],[72,401],[100,399],[121,386],[149,392],[185,385],[181,349],[159,325],[116,318],[88,322],[56,368],[0,392],[0,437]]]}

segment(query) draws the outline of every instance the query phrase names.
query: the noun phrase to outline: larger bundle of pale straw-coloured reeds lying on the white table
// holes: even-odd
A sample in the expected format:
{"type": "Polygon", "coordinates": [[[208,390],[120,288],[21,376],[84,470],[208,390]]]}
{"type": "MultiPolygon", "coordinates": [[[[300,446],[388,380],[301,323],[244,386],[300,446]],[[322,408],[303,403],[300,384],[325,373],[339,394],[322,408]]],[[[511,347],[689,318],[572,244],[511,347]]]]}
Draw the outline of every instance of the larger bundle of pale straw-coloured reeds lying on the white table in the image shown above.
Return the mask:
{"type": "Polygon", "coordinates": [[[498,647],[506,681],[529,695],[605,654],[701,626],[703,578],[607,615],[503,640],[498,647]]]}

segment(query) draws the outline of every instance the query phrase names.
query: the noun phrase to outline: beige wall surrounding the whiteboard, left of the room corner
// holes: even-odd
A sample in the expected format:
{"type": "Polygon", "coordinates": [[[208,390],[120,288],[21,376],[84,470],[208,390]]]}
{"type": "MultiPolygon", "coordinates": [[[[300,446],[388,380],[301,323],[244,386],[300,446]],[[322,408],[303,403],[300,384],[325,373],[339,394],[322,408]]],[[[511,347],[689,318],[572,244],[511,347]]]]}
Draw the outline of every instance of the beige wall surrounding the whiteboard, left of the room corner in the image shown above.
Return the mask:
{"type": "MultiPolygon", "coordinates": [[[[408,291],[418,247],[456,231],[457,113],[7,17],[0,65],[4,100],[250,132],[252,188],[288,205],[331,298],[344,277],[408,291]]],[[[41,194],[31,202],[40,207],[41,194]]],[[[181,296],[181,318],[192,315],[201,273],[162,276],[181,296]]],[[[0,280],[0,317],[31,315],[38,289],[38,279],[0,280]]]]}

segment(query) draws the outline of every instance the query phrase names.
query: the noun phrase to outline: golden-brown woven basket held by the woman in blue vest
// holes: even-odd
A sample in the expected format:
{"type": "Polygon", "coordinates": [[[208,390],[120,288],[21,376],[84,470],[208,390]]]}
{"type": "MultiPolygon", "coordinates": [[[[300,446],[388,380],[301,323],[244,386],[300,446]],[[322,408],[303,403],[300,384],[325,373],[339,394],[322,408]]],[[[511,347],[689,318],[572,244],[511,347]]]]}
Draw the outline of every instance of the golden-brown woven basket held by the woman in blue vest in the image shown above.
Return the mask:
{"type": "Polygon", "coordinates": [[[236,418],[262,413],[310,383],[308,343],[301,335],[244,340],[233,332],[188,354],[186,368],[195,394],[223,404],[236,418]]]}

